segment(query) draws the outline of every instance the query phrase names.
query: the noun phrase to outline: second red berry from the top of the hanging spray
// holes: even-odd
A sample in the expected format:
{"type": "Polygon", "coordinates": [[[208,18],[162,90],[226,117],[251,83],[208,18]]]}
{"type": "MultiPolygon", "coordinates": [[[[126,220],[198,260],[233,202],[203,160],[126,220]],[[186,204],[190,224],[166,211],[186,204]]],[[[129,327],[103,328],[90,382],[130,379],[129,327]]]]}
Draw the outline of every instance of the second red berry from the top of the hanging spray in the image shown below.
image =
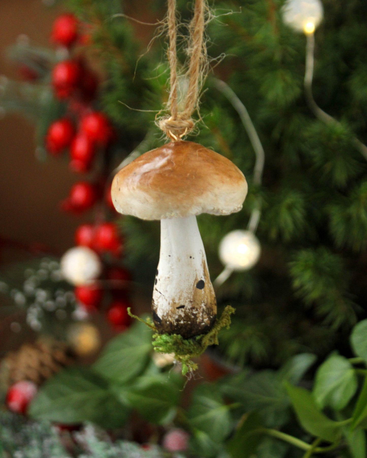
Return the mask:
{"type": "Polygon", "coordinates": [[[74,60],[64,60],[55,65],[52,71],[52,84],[59,98],[67,98],[78,87],[82,67],[74,60]]]}

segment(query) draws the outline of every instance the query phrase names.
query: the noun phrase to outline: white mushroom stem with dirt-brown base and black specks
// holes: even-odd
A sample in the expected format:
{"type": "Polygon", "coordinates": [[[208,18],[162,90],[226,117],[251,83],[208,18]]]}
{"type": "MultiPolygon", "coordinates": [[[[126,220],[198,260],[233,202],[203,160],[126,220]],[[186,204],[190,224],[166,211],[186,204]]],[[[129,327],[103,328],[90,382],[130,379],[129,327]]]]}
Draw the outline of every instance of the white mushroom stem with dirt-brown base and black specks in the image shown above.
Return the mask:
{"type": "Polygon", "coordinates": [[[158,330],[189,338],[209,329],[216,313],[196,217],[162,219],[153,292],[153,318],[158,330]]]}

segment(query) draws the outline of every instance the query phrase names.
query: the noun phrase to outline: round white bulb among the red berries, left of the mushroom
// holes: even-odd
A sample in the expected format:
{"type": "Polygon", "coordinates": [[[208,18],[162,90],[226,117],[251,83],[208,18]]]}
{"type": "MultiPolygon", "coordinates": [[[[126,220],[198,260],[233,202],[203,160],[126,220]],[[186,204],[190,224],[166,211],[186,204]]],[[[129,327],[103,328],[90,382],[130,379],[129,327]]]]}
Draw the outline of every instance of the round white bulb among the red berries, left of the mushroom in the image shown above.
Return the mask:
{"type": "Polygon", "coordinates": [[[100,276],[102,264],[95,251],[86,246],[70,248],[61,258],[62,276],[73,285],[91,282],[100,276]]]}

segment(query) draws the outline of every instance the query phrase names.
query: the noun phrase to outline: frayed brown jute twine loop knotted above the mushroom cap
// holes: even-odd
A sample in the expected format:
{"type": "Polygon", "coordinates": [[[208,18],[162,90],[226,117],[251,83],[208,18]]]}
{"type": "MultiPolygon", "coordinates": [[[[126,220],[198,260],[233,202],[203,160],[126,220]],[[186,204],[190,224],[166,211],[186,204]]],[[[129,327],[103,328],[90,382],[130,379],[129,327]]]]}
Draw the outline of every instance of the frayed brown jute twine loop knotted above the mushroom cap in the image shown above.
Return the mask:
{"type": "Polygon", "coordinates": [[[171,140],[178,140],[192,131],[195,127],[191,115],[198,108],[200,88],[205,80],[208,60],[206,43],[204,39],[206,14],[209,11],[206,0],[196,0],[194,17],[189,24],[189,46],[187,53],[190,56],[189,69],[187,71],[188,90],[186,93],[183,109],[178,109],[178,59],[177,59],[177,20],[176,0],[168,0],[168,61],[170,65],[170,96],[168,107],[170,116],[157,119],[159,128],[171,140]]]}

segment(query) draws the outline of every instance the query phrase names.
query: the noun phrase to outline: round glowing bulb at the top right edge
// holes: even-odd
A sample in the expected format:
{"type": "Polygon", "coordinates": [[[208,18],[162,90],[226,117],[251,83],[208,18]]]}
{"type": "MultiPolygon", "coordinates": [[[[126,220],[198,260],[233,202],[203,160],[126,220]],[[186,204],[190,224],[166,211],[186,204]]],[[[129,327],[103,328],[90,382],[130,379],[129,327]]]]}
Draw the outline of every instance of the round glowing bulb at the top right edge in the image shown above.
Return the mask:
{"type": "Polygon", "coordinates": [[[323,19],[320,0],[288,0],[283,6],[283,21],[297,32],[314,33],[323,19]]]}

